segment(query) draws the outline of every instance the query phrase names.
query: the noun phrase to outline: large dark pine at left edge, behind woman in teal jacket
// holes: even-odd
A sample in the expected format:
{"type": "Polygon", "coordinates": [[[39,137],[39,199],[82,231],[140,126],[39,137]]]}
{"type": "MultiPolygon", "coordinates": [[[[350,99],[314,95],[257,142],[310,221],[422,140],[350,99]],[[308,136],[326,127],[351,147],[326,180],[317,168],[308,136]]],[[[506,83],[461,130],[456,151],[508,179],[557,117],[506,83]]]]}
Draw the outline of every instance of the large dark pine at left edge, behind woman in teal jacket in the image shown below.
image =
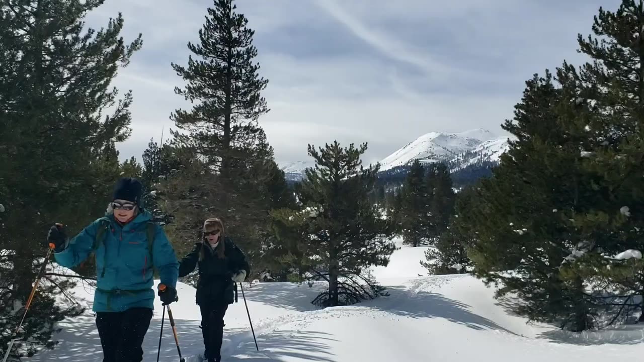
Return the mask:
{"type": "MultiPolygon", "coordinates": [[[[129,136],[131,93],[118,99],[110,82],[141,40],[124,43],[120,15],[98,32],[84,30],[82,19],[101,3],[0,0],[0,134],[12,135],[0,138],[0,354],[24,312],[14,307],[30,294],[48,227],[64,222],[71,234],[102,214],[104,171],[111,172],[104,151],[129,136]]],[[[56,301],[70,286],[44,278],[24,324],[26,342],[12,354],[53,348],[54,323],[79,312],[56,301]]]]}

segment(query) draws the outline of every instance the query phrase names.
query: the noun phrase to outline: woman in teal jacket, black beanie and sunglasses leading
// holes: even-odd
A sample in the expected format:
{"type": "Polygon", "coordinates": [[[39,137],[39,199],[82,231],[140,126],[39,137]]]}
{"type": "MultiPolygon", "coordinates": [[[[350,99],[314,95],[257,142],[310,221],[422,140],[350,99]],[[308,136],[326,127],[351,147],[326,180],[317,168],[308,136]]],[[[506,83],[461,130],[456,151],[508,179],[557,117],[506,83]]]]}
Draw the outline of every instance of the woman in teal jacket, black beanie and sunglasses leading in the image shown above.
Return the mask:
{"type": "Polygon", "coordinates": [[[93,310],[103,349],[103,362],[140,362],[142,343],[154,309],[153,267],[166,291],[164,304],[177,300],[175,251],[163,229],[142,208],[142,186],[122,178],[114,188],[106,216],[69,240],[59,225],[47,240],[55,245],[56,262],[75,267],[95,253],[97,289],[93,310]]]}

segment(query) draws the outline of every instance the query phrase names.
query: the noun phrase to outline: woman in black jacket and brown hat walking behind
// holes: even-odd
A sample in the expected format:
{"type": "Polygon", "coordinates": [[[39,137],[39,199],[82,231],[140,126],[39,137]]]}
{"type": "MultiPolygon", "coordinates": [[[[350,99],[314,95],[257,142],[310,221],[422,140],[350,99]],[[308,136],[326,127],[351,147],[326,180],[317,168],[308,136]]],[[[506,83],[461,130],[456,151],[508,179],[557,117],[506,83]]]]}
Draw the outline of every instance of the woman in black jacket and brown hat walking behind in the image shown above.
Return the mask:
{"type": "Polygon", "coordinates": [[[233,283],[241,283],[250,273],[243,252],[224,234],[223,223],[209,218],[204,223],[204,237],[184,256],[179,265],[179,277],[186,276],[199,265],[196,303],[202,314],[204,359],[222,359],[223,316],[234,301],[233,283]]]}

